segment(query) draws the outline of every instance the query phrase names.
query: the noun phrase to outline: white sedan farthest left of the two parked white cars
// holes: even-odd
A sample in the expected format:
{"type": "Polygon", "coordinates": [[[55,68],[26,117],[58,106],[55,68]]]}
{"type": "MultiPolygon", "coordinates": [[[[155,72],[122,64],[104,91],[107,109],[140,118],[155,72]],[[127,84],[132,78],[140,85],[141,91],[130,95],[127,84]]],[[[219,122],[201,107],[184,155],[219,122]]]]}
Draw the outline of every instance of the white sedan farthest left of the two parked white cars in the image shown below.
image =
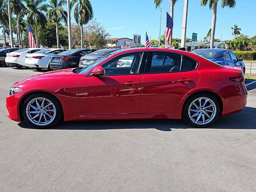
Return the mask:
{"type": "Polygon", "coordinates": [[[17,68],[22,68],[23,66],[25,66],[26,54],[34,53],[39,50],[40,48],[26,48],[26,49],[16,50],[11,53],[7,53],[5,58],[5,63],[8,65],[14,65],[17,68]]]}

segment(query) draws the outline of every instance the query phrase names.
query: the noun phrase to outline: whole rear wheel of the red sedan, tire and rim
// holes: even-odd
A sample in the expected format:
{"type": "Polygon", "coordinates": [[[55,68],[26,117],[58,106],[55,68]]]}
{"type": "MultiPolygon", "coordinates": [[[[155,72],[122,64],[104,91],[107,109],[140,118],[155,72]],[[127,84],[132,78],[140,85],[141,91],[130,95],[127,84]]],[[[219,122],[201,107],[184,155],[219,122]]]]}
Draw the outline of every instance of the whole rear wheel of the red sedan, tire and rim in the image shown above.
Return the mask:
{"type": "Polygon", "coordinates": [[[186,103],[183,116],[194,127],[204,128],[213,124],[220,114],[218,100],[210,94],[192,96],[186,103]]]}

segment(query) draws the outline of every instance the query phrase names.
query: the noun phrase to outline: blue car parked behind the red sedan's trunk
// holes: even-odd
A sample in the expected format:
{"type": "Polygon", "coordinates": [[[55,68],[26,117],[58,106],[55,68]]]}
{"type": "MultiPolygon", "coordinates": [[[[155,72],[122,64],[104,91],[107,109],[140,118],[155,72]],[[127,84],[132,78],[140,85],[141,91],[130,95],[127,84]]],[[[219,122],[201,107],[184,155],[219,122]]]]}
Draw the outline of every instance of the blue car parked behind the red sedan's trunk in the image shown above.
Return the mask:
{"type": "Polygon", "coordinates": [[[226,49],[196,49],[192,53],[207,58],[221,65],[237,66],[245,73],[243,58],[237,58],[231,50],[226,49]]]}

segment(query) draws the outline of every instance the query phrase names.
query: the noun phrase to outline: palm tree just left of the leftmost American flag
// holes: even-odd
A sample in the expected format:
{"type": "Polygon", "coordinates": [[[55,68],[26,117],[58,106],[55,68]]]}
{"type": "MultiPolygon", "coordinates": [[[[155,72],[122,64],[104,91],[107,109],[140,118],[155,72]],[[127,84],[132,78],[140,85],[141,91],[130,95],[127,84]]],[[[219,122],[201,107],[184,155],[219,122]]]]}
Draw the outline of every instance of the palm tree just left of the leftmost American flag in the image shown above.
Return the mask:
{"type": "MultiPolygon", "coordinates": [[[[22,44],[21,43],[21,38],[20,38],[20,19],[19,16],[21,13],[26,12],[26,7],[23,4],[22,0],[10,0],[11,1],[11,8],[12,8],[12,12],[16,15],[16,34],[17,34],[17,39],[18,39],[18,44],[22,44]]],[[[14,29],[12,27],[12,29],[14,29]]]]}

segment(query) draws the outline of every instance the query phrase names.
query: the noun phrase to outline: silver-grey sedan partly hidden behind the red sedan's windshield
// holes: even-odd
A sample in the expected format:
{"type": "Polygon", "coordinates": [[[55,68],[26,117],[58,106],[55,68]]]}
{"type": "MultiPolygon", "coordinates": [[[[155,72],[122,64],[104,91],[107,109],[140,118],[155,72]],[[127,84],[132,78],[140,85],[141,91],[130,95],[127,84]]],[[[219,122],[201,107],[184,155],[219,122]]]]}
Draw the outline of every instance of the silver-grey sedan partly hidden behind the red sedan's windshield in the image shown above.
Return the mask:
{"type": "Polygon", "coordinates": [[[85,67],[91,64],[92,62],[104,57],[107,54],[113,53],[120,49],[101,49],[94,51],[86,56],[80,58],[79,67],[85,67]]]}

